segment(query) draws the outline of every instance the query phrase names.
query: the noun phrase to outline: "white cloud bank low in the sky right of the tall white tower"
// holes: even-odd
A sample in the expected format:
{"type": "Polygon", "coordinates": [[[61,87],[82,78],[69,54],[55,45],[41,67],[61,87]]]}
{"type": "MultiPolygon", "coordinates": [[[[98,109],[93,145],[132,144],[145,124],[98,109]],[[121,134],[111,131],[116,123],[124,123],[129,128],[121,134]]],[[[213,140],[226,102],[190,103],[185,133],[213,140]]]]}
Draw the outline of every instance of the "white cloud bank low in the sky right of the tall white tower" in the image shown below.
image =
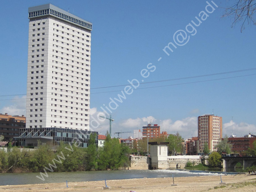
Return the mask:
{"type": "MultiPolygon", "coordinates": [[[[102,113],[97,112],[97,108],[90,109],[90,122],[96,125],[94,120],[96,119],[99,122],[97,128],[92,128],[90,124],[91,130],[102,132],[105,134],[107,130],[109,130],[109,120],[103,119],[99,117],[102,113]],[[94,118],[94,120],[93,120],[94,118]]],[[[115,136],[114,132],[122,132],[122,131],[131,131],[131,133],[123,134],[123,138],[127,138],[128,136],[133,136],[133,130],[140,129],[142,131],[142,127],[146,126],[148,123],[152,121],[152,124],[160,125],[160,132],[167,131],[168,134],[175,134],[179,132],[179,134],[184,138],[191,138],[197,136],[197,117],[186,117],[184,119],[179,119],[173,121],[172,119],[156,119],[153,116],[149,117],[137,117],[136,119],[128,118],[125,120],[118,121],[115,119],[112,122],[112,137],[115,136]]],[[[227,122],[222,125],[222,136],[225,135],[230,136],[232,134],[232,122],[227,122]]],[[[233,134],[236,136],[244,136],[251,132],[252,134],[256,134],[254,132],[256,130],[256,125],[240,122],[235,123],[233,122],[233,134]]]]}

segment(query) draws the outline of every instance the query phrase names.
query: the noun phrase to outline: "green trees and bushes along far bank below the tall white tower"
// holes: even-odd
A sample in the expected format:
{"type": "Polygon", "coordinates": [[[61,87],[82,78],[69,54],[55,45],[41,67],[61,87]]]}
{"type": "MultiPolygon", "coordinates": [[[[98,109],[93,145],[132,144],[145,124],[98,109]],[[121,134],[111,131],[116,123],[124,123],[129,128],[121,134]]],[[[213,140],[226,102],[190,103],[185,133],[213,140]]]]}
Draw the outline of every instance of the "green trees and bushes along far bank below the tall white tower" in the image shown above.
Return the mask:
{"type": "Polygon", "coordinates": [[[57,150],[52,150],[50,145],[39,143],[36,150],[20,150],[20,148],[8,148],[7,152],[0,149],[0,172],[40,172],[53,163],[58,156],[65,157],[61,163],[56,163],[54,171],[90,171],[107,170],[127,167],[129,165],[130,149],[119,143],[110,135],[104,142],[104,146],[97,148],[96,135],[91,134],[88,148],[79,148],[73,145],[60,143],[57,150]],[[67,148],[73,148],[73,151],[67,148]]]}

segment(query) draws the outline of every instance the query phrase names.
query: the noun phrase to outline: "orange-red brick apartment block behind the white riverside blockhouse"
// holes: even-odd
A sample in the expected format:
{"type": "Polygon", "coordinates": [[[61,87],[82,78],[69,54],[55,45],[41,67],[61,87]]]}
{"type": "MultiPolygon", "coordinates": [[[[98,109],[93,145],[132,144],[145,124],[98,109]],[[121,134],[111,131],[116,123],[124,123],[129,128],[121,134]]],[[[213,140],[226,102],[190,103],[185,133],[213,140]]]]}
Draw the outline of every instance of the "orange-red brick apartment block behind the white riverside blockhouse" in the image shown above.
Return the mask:
{"type": "Polygon", "coordinates": [[[142,127],[142,137],[143,138],[159,138],[167,137],[168,134],[166,131],[160,133],[160,125],[157,124],[148,124],[147,126],[142,127]]]}

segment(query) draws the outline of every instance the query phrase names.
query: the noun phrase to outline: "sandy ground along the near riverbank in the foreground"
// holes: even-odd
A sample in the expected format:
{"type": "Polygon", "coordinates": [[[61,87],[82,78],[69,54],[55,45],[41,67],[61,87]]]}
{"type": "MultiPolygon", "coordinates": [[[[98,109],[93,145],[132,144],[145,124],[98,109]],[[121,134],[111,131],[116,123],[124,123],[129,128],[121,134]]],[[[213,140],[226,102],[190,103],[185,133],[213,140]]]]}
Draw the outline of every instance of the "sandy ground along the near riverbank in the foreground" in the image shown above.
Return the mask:
{"type": "Polygon", "coordinates": [[[177,186],[172,186],[172,178],[148,178],[148,179],[122,179],[109,180],[107,186],[111,189],[103,189],[104,181],[97,182],[72,182],[27,184],[0,186],[1,192],[204,192],[204,191],[239,191],[255,192],[256,175],[229,175],[222,176],[193,176],[174,178],[177,186]]]}

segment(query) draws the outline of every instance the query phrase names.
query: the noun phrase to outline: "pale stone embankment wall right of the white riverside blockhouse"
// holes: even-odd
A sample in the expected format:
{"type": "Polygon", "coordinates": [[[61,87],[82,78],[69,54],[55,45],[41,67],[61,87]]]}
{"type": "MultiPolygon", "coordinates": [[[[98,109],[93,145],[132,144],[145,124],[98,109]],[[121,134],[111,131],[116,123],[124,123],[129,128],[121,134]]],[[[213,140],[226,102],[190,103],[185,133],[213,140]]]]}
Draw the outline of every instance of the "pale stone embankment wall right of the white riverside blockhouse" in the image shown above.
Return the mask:
{"type": "Polygon", "coordinates": [[[201,156],[168,156],[167,161],[169,163],[169,168],[184,169],[188,161],[191,163],[194,162],[195,165],[201,163],[200,157],[201,156]]]}

